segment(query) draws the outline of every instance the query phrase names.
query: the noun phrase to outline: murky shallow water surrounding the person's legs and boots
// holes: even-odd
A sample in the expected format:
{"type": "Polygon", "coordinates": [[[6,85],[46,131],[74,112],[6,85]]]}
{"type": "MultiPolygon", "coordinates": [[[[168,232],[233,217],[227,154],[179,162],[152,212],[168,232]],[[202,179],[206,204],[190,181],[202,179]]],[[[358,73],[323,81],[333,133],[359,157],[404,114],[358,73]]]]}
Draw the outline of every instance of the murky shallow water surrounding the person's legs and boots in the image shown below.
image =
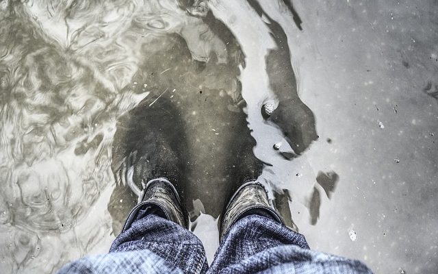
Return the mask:
{"type": "Polygon", "coordinates": [[[313,248],[433,272],[437,10],[1,1],[1,269],[104,253],[166,173],[210,257],[227,197],[258,178],[313,248]]]}

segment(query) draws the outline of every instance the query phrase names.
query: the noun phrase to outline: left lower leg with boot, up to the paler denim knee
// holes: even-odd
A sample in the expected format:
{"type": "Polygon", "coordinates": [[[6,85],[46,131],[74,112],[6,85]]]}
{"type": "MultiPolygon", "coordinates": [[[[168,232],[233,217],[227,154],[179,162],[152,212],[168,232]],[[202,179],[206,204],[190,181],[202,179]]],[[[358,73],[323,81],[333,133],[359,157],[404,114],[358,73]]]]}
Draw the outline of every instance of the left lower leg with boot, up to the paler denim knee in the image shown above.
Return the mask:
{"type": "Polygon", "coordinates": [[[203,245],[186,229],[187,214],[175,187],[167,179],[158,178],[144,188],[142,202],[131,210],[110,253],[147,249],[184,272],[205,272],[203,245]]]}

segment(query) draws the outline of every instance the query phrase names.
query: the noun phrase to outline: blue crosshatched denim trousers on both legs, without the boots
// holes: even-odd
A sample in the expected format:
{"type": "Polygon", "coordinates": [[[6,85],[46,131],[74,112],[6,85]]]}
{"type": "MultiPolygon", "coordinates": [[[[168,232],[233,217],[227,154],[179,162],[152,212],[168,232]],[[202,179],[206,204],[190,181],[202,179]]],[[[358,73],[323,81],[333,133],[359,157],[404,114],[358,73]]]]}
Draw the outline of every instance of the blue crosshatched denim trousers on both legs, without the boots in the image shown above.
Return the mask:
{"type": "Polygon", "coordinates": [[[372,273],[365,264],[312,251],[302,234],[265,216],[249,215],[224,236],[211,266],[201,240],[148,214],[113,242],[110,253],[66,264],[64,273],[372,273]]]}

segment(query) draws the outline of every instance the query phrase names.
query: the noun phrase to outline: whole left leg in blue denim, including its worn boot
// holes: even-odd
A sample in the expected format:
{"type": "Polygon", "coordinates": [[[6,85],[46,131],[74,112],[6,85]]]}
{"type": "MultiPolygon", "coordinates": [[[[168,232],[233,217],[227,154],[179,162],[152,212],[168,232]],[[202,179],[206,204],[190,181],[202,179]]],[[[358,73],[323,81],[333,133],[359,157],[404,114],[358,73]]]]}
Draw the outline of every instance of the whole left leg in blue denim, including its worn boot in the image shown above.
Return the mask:
{"type": "Polygon", "coordinates": [[[153,179],[110,253],[82,258],[60,273],[205,273],[203,245],[186,229],[186,220],[175,187],[165,178],[153,179]]]}

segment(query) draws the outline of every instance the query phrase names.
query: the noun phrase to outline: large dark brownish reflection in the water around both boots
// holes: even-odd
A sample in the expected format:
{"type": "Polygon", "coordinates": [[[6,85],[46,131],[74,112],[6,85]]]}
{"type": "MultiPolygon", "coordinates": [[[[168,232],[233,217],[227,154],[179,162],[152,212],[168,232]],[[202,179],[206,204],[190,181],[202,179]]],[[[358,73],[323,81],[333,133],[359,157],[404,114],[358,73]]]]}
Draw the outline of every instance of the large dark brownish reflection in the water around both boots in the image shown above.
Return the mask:
{"type": "MultiPolygon", "coordinates": [[[[222,28],[213,17],[206,20],[222,28]]],[[[120,216],[136,203],[126,179],[130,166],[142,161],[147,163],[131,171],[133,184],[141,189],[142,178],[170,177],[182,190],[192,219],[200,213],[195,200],[217,217],[232,192],[261,173],[237,80],[242,51],[231,33],[220,32],[229,52],[227,64],[216,62],[214,55],[209,62],[194,61],[182,38],[168,36],[159,38],[157,44],[166,47],[148,55],[134,77],[151,94],[118,121],[112,164],[118,185],[108,206],[119,220],[114,221],[115,232],[122,225],[120,216]]]]}

